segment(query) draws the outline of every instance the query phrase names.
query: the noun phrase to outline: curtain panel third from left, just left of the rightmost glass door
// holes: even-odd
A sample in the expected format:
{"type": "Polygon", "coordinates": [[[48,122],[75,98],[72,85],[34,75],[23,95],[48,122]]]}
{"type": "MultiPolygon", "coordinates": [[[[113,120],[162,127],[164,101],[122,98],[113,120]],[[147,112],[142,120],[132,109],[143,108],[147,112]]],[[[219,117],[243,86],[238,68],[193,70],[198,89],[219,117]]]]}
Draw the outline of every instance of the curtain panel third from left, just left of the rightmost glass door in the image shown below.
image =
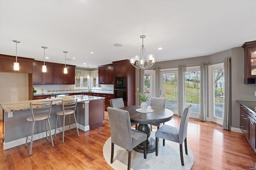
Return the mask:
{"type": "Polygon", "coordinates": [[[207,64],[200,64],[200,121],[206,121],[207,104],[208,104],[208,89],[207,89],[207,64]]]}

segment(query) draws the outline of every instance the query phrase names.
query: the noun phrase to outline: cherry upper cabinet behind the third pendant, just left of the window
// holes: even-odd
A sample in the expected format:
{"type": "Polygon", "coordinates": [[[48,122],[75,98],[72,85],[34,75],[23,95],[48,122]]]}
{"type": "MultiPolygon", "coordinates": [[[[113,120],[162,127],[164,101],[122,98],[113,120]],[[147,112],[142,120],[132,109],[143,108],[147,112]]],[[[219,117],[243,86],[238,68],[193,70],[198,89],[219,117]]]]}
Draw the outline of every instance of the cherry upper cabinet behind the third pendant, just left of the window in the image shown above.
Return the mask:
{"type": "Polygon", "coordinates": [[[64,66],[53,66],[53,84],[75,84],[75,66],[66,66],[68,74],[64,74],[64,66]]]}

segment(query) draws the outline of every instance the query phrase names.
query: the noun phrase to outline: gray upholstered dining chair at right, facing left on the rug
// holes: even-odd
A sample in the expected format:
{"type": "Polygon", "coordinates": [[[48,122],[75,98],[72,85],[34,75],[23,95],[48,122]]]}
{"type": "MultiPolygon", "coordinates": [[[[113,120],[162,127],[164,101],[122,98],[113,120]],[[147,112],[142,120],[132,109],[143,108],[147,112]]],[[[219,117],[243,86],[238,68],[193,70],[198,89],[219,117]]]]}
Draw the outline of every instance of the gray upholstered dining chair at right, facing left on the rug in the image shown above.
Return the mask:
{"type": "Polygon", "coordinates": [[[180,121],[180,128],[163,125],[156,131],[156,156],[158,156],[158,138],[163,139],[163,145],[165,145],[164,140],[173,141],[180,144],[180,160],[182,166],[184,166],[183,150],[182,144],[185,144],[185,152],[188,154],[187,148],[187,130],[188,130],[188,119],[191,112],[192,104],[188,105],[182,114],[180,121]]]}

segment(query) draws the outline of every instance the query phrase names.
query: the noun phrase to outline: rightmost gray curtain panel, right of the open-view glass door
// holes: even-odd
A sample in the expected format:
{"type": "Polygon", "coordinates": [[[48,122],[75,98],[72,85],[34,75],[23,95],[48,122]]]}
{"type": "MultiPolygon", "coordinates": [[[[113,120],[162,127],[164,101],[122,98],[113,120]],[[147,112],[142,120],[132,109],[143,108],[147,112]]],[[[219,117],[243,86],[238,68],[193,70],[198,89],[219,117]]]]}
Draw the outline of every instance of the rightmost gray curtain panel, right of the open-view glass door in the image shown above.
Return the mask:
{"type": "Polygon", "coordinates": [[[231,77],[231,71],[230,71],[230,58],[224,59],[224,102],[223,102],[223,128],[226,130],[230,130],[230,112],[231,112],[231,100],[230,100],[230,77],[231,77]]]}

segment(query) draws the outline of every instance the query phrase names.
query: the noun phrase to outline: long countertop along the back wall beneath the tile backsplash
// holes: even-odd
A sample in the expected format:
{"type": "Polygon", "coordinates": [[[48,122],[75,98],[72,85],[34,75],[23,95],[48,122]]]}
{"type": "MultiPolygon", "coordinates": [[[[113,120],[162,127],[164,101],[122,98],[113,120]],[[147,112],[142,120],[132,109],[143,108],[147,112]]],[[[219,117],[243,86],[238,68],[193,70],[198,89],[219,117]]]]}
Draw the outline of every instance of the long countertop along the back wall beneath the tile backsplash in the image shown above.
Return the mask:
{"type": "Polygon", "coordinates": [[[47,94],[37,94],[33,96],[44,96],[44,95],[51,95],[51,94],[70,94],[70,93],[102,93],[102,94],[114,94],[112,90],[93,90],[93,91],[84,91],[84,90],[68,90],[68,91],[54,91],[54,92],[47,92],[47,94]]]}

